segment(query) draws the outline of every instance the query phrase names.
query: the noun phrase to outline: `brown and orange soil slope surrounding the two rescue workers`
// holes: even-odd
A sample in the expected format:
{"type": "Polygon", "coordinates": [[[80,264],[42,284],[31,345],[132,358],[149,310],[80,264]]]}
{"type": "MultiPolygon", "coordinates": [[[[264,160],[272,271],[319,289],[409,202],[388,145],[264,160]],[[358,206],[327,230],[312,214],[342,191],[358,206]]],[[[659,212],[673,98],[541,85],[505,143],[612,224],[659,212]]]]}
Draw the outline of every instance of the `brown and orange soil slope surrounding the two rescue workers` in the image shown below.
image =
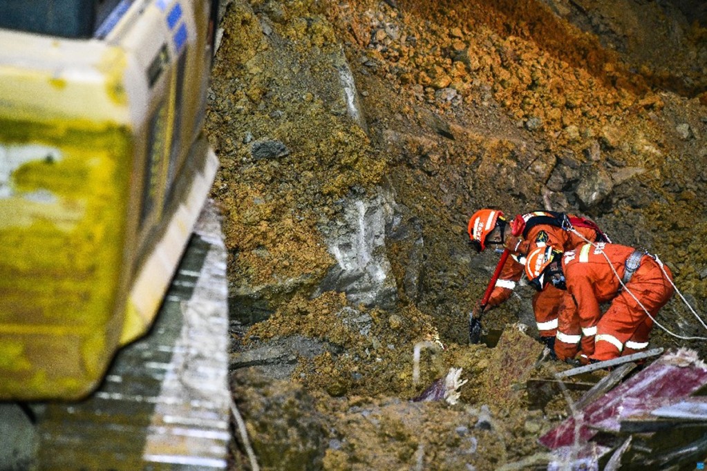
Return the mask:
{"type": "MultiPolygon", "coordinates": [[[[569,366],[539,361],[533,327],[530,336],[515,327],[532,319],[528,287],[487,316],[486,328],[503,332],[498,346],[467,345],[467,313],[498,259],[467,246],[477,208],[515,215],[551,201],[580,210],[614,242],[660,254],[703,311],[705,14],[699,5],[686,10],[690,2],[663,3],[228,2],[206,117],[221,159],[213,196],[226,216],[232,294],[255,290],[273,313],[236,329],[234,350],[293,335],[332,346],[299,357],[285,381],[234,372],[262,469],[543,463],[537,438],[566,417],[567,396],[534,408],[525,381],[569,366]],[[337,70],[346,64],[359,122],[339,93],[337,70]],[[265,141],[284,150],[255,158],[254,144],[265,141]],[[609,172],[616,184],[602,201],[581,205],[566,189],[548,193],[561,165],[609,172]],[[629,175],[633,168],[641,172],[629,175]],[[392,310],[361,308],[371,319],[362,335],[337,315],[344,294],[311,294],[334,263],[321,227],[346,198],[378,185],[394,189],[405,217],[421,227],[426,276],[413,296],[404,288],[413,247],[389,242],[399,300],[392,310]],[[437,338],[445,350],[422,350],[413,381],[414,345],[437,338]],[[459,403],[411,402],[450,367],[468,380],[459,403]]],[[[679,299],[663,312],[670,330],[705,334],[684,320],[679,299]]],[[[660,329],[652,341],[705,356],[701,342],[660,329]]],[[[234,469],[247,468],[241,439],[234,443],[234,469]]]]}

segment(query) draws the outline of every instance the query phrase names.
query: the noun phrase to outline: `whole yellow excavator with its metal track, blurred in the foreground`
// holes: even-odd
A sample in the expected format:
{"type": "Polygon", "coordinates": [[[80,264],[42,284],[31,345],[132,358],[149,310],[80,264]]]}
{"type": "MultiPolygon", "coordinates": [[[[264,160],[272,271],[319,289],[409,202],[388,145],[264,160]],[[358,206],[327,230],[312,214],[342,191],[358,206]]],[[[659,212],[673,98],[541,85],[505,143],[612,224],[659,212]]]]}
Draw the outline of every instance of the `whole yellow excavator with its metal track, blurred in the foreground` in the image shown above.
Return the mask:
{"type": "Polygon", "coordinates": [[[214,0],[0,2],[0,470],[226,465],[225,360],[179,377],[189,354],[226,357],[201,129],[217,17],[214,0]]]}

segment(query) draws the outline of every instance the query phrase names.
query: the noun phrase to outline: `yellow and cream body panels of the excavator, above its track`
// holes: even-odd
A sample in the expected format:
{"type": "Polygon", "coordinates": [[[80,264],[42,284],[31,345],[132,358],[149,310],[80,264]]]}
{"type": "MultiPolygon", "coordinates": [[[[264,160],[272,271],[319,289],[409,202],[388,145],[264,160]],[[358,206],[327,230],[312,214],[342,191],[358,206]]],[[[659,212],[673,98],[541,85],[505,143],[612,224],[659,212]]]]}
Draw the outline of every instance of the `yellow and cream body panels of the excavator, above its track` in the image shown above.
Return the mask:
{"type": "Polygon", "coordinates": [[[0,29],[0,400],[81,398],[153,323],[218,165],[207,5],[0,29]]]}

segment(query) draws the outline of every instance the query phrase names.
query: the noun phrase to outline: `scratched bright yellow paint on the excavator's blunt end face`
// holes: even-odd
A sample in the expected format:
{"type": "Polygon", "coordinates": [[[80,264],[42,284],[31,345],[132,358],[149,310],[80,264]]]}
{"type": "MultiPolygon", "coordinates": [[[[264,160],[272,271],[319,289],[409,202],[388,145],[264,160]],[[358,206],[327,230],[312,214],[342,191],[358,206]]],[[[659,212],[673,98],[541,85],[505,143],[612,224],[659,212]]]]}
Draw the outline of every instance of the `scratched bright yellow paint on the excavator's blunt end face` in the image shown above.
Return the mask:
{"type": "Polygon", "coordinates": [[[88,121],[0,117],[0,129],[4,148],[61,153],[18,166],[0,197],[0,398],[76,398],[100,380],[122,329],[132,139],[88,121]]]}

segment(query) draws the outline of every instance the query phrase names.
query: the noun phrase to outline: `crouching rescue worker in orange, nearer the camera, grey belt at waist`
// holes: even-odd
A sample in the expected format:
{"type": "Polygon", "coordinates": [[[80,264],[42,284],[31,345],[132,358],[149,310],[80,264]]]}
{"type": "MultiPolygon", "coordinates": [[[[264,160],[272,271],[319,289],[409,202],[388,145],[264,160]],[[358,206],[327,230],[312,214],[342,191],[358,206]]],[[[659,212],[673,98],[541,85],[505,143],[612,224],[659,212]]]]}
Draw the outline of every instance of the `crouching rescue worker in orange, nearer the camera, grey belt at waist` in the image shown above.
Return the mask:
{"type": "Polygon", "coordinates": [[[653,319],[674,293],[670,268],[658,257],[619,244],[584,244],[564,254],[538,247],[525,274],[538,290],[564,290],[555,354],[582,364],[645,350],[653,319]]]}

